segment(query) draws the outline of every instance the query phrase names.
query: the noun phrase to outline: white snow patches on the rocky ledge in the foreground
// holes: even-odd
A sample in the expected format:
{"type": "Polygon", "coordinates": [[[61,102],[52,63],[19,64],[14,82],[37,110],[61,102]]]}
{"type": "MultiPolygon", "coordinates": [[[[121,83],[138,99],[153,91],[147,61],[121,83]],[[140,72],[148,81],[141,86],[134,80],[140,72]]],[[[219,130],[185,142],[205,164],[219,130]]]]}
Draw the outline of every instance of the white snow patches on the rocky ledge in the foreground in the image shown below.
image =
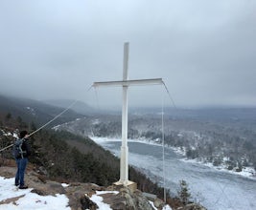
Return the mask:
{"type": "MultiPolygon", "coordinates": [[[[5,179],[0,177],[0,210],[17,210],[17,209],[26,209],[26,210],[70,210],[68,206],[68,198],[65,195],[56,194],[56,196],[39,196],[35,193],[32,193],[32,188],[26,190],[19,190],[14,186],[14,178],[5,179]],[[13,198],[16,198],[15,201],[11,201],[13,198]],[[8,201],[9,200],[9,201],[8,201]]],[[[67,187],[67,184],[62,184],[63,187],[67,187]]],[[[93,195],[90,200],[97,203],[99,210],[111,210],[110,206],[103,202],[103,198],[100,196],[106,193],[117,194],[117,191],[96,191],[96,194],[93,195]]],[[[153,206],[153,203],[151,202],[153,206]]],[[[172,210],[169,205],[166,205],[163,210],[172,210]]]]}

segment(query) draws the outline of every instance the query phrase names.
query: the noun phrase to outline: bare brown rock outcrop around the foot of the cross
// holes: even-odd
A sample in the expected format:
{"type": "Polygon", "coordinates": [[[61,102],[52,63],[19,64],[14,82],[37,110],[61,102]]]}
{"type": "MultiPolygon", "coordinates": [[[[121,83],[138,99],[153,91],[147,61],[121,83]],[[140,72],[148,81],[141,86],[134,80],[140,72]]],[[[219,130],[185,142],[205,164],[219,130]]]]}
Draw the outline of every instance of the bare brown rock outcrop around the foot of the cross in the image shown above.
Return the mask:
{"type": "MultiPolygon", "coordinates": [[[[13,178],[15,170],[15,167],[2,166],[0,167],[0,176],[13,178]]],[[[40,196],[65,194],[69,199],[69,206],[72,210],[97,209],[97,204],[90,200],[96,191],[105,191],[100,196],[103,198],[103,202],[109,204],[114,210],[153,210],[149,200],[142,195],[141,191],[135,190],[132,192],[127,187],[119,187],[118,189],[113,185],[105,188],[94,183],[81,182],[70,182],[64,187],[62,183],[46,179],[34,170],[28,170],[25,175],[25,182],[30,188],[33,188],[33,193],[40,196]]],[[[18,199],[6,200],[5,203],[18,199]]]]}

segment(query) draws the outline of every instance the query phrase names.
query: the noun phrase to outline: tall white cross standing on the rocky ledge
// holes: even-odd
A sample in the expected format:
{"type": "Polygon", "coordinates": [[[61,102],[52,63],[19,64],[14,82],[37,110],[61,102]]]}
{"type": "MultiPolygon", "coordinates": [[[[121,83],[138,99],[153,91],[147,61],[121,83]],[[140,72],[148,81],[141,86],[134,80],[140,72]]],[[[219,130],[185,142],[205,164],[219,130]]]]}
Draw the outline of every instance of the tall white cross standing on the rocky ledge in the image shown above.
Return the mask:
{"type": "Polygon", "coordinates": [[[162,78],[128,80],[128,42],[124,45],[124,69],[123,80],[94,82],[93,87],[100,86],[122,86],[123,87],[123,108],[122,108],[122,145],[120,157],[120,179],[117,185],[128,186],[128,86],[131,85],[161,85],[162,78]]]}

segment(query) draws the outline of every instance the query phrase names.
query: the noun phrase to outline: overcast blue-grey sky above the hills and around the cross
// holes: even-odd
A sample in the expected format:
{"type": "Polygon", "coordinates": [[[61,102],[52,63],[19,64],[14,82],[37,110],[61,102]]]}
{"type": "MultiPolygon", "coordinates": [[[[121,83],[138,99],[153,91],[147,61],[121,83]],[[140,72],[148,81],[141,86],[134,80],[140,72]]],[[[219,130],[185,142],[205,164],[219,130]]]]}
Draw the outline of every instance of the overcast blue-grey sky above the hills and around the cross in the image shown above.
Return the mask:
{"type": "MultiPolygon", "coordinates": [[[[256,105],[254,0],[0,1],[0,93],[121,104],[129,79],[163,78],[177,107],[256,105]]],[[[169,97],[163,87],[130,87],[130,105],[169,97]]],[[[156,102],[159,101],[159,102],[156,102]]]]}

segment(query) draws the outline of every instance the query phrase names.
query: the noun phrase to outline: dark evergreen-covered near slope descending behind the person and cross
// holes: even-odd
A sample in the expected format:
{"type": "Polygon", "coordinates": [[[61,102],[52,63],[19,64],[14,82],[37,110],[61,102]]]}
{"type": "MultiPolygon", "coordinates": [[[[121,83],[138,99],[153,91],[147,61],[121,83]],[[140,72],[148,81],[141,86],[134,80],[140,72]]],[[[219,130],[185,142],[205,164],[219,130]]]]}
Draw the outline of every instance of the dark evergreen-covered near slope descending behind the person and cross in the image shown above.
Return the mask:
{"type": "MultiPolygon", "coordinates": [[[[18,130],[36,130],[35,123],[27,123],[20,116],[0,112],[0,146],[13,143],[18,130]]],[[[49,179],[92,182],[107,186],[119,179],[119,159],[105,151],[88,137],[64,131],[40,130],[30,137],[33,154],[30,162],[35,170],[49,179]]],[[[12,147],[1,153],[1,165],[12,158],[12,147]]],[[[142,173],[129,167],[129,179],[138,189],[163,197],[163,189],[142,173]]]]}

